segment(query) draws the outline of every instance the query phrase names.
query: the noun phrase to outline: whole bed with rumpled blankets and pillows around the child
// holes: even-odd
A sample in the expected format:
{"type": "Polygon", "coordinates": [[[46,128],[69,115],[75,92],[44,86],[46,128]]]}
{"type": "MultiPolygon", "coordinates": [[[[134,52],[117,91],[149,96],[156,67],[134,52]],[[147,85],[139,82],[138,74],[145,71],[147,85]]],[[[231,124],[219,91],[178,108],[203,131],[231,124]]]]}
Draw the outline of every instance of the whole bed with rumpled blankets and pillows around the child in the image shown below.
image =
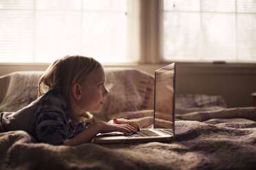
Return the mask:
{"type": "MultiPolygon", "coordinates": [[[[43,72],[0,77],[0,111],[36,99],[43,72]]],[[[109,95],[89,124],[113,117],[152,127],[154,77],[136,69],[106,69],[109,95]]],[[[36,143],[25,131],[0,133],[0,169],[255,169],[256,108],[226,108],[221,96],[176,95],[176,137],[169,143],[75,147],[36,143]]]]}

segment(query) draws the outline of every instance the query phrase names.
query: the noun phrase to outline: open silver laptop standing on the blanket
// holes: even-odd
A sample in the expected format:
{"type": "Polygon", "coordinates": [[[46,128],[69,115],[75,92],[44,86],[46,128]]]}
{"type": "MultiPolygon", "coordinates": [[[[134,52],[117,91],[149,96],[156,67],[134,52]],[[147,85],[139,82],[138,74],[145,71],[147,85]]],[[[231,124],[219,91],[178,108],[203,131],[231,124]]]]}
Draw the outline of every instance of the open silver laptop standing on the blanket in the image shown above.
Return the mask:
{"type": "Polygon", "coordinates": [[[154,126],[137,134],[110,132],[97,134],[93,143],[135,143],[172,141],[175,134],[175,63],[154,71],[154,126]]]}

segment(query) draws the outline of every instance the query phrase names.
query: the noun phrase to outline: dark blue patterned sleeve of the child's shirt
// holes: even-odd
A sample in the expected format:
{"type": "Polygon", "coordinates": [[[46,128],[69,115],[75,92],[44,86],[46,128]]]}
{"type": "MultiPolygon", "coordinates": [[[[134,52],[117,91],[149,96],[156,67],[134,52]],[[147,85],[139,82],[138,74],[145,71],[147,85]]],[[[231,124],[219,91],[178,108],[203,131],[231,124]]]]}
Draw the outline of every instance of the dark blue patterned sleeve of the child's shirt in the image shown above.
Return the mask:
{"type": "Polygon", "coordinates": [[[54,145],[61,145],[86,128],[83,122],[69,122],[67,103],[56,90],[50,90],[38,101],[34,123],[36,139],[54,145]]]}

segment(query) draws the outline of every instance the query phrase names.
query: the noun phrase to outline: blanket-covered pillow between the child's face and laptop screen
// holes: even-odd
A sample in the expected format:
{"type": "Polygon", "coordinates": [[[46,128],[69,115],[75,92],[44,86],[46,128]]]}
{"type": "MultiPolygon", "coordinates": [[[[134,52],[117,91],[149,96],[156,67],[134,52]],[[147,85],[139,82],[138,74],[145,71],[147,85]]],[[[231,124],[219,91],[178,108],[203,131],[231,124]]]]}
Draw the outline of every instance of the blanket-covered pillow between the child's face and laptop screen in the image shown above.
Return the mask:
{"type": "Polygon", "coordinates": [[[111,114],[150,110],[154,106],[154,77],[137,69],[106,68],[105,104],[95,121],[109,121],[111,114]]]}

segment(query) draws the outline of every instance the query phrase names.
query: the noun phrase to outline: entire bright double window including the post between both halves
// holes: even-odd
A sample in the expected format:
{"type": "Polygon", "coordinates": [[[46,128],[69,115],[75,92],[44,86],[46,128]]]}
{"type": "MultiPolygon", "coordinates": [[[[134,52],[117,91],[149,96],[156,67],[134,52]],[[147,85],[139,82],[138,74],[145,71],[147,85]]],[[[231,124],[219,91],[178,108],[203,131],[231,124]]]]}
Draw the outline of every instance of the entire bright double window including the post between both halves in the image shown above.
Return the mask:
{"type": "Polygon", "coordinates": [[[256,62],[255,0],[0,0],[0,62],[256,62]]]}

